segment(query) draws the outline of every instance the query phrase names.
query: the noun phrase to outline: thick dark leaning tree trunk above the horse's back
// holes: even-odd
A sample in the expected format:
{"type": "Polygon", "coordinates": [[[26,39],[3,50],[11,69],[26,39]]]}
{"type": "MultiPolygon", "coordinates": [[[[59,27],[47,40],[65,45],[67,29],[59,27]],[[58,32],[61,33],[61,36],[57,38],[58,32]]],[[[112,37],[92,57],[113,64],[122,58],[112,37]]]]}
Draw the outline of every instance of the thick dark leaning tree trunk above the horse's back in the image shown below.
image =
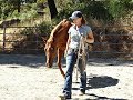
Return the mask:
{"type": "Polygon", "coordinates": [[[54,0],[48,0],[48,4],[49,4],[50,13],[51,13],[51,19],[53,19],[58,14],[54,0]]]}

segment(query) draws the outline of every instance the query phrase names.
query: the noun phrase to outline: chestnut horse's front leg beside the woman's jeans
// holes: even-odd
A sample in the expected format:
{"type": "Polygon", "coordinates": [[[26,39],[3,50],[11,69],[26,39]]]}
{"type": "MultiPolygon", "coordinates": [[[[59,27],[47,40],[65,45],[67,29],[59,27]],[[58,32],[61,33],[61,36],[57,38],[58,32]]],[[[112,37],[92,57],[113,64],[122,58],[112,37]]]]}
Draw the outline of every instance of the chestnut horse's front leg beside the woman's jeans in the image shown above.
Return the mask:
{"type": "Polygon", "coordinates": [[[63,77],[65,77],[64,71],[62,70],[62,67],[61,67],[61,58],[62,58],[63,53],[64,53],[64,50],[58,49],[58,67],[60,69],[61,74],[63,77]]]}

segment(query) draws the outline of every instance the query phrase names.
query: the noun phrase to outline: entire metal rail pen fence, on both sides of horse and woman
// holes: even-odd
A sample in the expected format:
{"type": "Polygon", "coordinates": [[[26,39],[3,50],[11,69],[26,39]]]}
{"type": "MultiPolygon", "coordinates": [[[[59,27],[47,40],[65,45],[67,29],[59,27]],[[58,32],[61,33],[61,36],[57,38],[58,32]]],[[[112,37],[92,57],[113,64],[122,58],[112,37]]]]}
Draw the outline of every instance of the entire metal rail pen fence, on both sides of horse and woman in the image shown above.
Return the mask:
{"type": "MultiPolygon", "coordinates": [[[[95,42],[89,44],[90,58],[133,57],[133,27],[94,27],[95,42]]],[[[41,33],[39,27],[0,28],[1,53],[44,53],[44,41],[49,33],[41,33]]]]}

